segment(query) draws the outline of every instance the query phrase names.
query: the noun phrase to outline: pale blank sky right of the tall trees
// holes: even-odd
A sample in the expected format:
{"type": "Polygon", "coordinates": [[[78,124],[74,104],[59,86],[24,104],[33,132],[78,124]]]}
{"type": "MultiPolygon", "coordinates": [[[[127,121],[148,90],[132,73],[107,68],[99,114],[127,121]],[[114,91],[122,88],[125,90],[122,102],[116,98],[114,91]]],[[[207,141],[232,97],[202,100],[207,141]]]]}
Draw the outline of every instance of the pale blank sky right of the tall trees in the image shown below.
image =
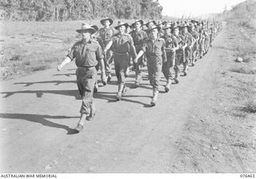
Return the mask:
{"type": "Polygon", "coordinates": [[[163,7],[162,14],[181,18],[202,14],[220,13],[227,6],[237,5],[245,0],[158,0],[163,7]]]}

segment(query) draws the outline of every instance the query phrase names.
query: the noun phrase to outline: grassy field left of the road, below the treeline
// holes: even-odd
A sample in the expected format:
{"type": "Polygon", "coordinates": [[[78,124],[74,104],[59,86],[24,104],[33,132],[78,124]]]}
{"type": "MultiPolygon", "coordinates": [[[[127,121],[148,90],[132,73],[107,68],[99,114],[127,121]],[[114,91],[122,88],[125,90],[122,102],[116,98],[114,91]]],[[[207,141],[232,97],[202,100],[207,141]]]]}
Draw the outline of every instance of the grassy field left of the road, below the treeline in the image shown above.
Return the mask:
{"type": "MultiPolygon", "coordinates": [[[[114,19],[134,22],[134,20],[114,19]]],[[[67,22],[0,22],[0,79],[53,68],[62,62],[81,35],[75,30],[87,22],[102,27],[100,19],[67,22]]]]}

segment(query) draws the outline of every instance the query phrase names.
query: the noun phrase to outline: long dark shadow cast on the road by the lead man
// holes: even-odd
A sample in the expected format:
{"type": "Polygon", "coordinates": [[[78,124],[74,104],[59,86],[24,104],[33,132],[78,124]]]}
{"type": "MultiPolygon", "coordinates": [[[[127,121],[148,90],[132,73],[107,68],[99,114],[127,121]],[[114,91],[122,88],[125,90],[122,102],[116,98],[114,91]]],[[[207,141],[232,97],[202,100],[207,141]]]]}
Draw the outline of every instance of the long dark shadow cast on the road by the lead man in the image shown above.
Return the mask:
{"type": "Polygon", "coordinates": [[[76,130],[71,129],[69,126],[61,125],[52,121],[46,120],[49,119],[67,119],[67,118],[78,118],[78,117],[67,117],[67,116],[50,116],[50,115],[39,115],[39,114],[30,114],[30,113],[0,113],[1,118],[7,119],[22,119],[26,121],[32,121],[36,123],[40,123],[42,125],[48,127],[54,127],[58,129],[66,129],[66,134],[74,134],[77,133],[76,130]]]}

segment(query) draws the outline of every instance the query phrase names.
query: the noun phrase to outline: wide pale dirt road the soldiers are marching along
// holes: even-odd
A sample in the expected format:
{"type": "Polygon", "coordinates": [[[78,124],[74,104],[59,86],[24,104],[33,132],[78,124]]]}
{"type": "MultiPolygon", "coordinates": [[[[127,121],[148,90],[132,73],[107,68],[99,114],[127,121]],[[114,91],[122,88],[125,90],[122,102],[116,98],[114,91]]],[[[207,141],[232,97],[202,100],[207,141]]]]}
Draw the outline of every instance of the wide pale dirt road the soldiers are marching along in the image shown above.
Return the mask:
{"type": "Polygon", "coordinates": [[[212,132],[210,141],[209,135],[199,144],[193,139],[186,140],[194,135],[190,130],[193,121],[211,118],[211,106],[216,105],[216,71],[224,54],[224,38],[225,31],[218,35],[209,53],[190,67],[188,76],[171,86],[170,93],[163,93],[165,79],[162,78],[162,93],[154,108],[149,105],[152,90],[146,81],[146,68],[142,87],[133,88],[134,74],[131,74],[127,80],[130,89],[119,102],[115,101],[118,86],[114,78],[94,95],[97,115],[94,121],[86,122],[84,131],[78,134],[70,134],[78,122],[81,105],[74,64],[67,65],[60,73],[51,69],[2,82],[0,172],[234,173],[254,170],[245,168],[233,154],[222,157],[222,165],[217,159],[202,158],[204,153],[214,155],[214,145],[219,142],[212,131],[204,131],[212,132]],[[207,142],[209,149],[200,146],[207,142]],[[228,160],[233,165],[227,165],[228,160]]]}

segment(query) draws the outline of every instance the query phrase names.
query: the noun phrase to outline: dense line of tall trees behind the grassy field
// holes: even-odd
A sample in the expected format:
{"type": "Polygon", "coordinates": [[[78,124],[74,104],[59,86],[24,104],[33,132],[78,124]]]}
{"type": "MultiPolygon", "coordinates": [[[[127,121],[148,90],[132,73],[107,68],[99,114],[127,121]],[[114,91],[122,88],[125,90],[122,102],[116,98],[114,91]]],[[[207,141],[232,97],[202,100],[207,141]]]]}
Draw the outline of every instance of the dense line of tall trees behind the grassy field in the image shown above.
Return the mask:
{"type": "Polygon", "coordinates": [[[93,18],[162,18],[158,0],[0,0],[1,19],[66,21],[93,18]]]}

